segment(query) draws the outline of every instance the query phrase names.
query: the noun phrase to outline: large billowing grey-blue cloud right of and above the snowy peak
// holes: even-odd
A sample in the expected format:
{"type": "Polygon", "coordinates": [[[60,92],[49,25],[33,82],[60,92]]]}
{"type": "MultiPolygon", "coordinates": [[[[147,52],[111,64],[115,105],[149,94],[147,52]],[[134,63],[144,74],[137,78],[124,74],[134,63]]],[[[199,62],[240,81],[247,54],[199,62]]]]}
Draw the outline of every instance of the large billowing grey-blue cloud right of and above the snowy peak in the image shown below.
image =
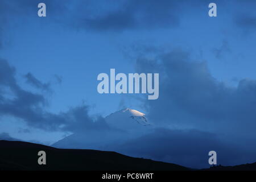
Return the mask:
{"type": "Polygon", "coordinates": [[[145,101],[148,117],[157,123],[210,127],[225,132],[256,129],[256,81],[242,79],[237,87],[216,80],[204,61],[174,50],[154,60],[139,58],[137,71],[160,73],[159,99],[145,101]]]}

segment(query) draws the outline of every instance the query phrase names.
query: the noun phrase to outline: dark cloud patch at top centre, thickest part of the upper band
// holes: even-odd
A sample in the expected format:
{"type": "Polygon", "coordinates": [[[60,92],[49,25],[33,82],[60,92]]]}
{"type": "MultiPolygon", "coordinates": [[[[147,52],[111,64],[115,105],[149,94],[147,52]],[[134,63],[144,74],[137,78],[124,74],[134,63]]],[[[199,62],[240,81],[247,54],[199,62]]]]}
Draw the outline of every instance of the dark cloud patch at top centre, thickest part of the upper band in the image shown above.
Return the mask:
{"type": "MultiPolygon", "coordinates": [[[[110,6],[110,9],[112,7],[110,6]]],[[[131,28],[176,27],[180,6],[175,1],[123,1],[118,9],[95,18],[85,19],[84,24],[94,30],[126,30],[131,28]]],[[[85,27],[86,27],[85,26],[85,27]]]]}

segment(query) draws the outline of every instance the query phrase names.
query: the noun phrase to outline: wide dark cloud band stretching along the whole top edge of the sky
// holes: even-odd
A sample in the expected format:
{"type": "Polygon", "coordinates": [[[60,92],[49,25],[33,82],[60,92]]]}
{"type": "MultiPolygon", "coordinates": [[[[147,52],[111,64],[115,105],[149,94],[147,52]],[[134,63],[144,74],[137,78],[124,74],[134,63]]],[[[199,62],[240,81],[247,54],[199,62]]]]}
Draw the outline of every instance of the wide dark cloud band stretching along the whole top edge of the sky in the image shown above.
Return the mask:
{"type": "MultiPolygon", "coordinates": [[[[14,22],[16,17],[33,16],[39,2],[29,0],[0,2],[0,23],[3,29],[7,24],[14,22]]],[[[75,30],[92,31],[125,31],[152,28],[174,28],[181,24],[181,18],[195,12],[200,12],[203,8],[208,10],[210,1],[196,0],[193,2],[180,0],[122,0],[122,1],[76,1],[68,0],[44,1],[47,6],[47,20],[59,23],[60,26],[75,28],[75,30]]],[[[230,6],[247,7],[255,5],[253,1],[216,1],[222,9],[229,9],[230,6]],[[254,4],[253,4],[254,3],[254,4]]],[[[236,11],[237,16],[247,16],[247,11],[236,11]]],[[[253,25],[254,18],[235,18],[235,22],[240,25],[253,25]]]]}

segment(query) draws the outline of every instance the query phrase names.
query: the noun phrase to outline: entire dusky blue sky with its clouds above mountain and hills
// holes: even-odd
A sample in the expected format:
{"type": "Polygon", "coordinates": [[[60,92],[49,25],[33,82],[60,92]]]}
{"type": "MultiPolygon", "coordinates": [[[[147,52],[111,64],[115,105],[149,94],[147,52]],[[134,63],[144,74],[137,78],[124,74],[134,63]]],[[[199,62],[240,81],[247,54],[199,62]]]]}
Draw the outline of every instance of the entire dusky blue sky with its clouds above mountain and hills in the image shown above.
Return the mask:
{"type": "Polygon", "coordinates": [[[255,150],[248,148],[256,140],[255,7],[253,0],[2,0],[0,133],[50,144],[130,107],[159,127],[255,150]],[[217,17],[208,16],[210,2],[217,17]],[[159,99],[98,94],[97,75],[110,68],[159,73],[159,99]]]}

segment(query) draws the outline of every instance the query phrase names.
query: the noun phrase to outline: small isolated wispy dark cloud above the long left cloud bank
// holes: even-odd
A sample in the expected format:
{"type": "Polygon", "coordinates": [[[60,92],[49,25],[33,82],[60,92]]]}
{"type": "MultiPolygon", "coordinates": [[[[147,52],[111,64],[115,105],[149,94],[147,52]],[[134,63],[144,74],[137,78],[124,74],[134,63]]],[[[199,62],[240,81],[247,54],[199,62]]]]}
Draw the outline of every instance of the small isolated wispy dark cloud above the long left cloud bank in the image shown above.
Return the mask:
{"type": "Polygon", "coordinates": [[[32,75],[31,73],[27,73],[26,75],[24,75],[24,77],[26,78],[26,82],[34,86],[35,88],[46,90],[48,92],[51,91],[51,84],[49,82],[43,83],[36,77],[34,77],[34,75],[32,75]]]}

